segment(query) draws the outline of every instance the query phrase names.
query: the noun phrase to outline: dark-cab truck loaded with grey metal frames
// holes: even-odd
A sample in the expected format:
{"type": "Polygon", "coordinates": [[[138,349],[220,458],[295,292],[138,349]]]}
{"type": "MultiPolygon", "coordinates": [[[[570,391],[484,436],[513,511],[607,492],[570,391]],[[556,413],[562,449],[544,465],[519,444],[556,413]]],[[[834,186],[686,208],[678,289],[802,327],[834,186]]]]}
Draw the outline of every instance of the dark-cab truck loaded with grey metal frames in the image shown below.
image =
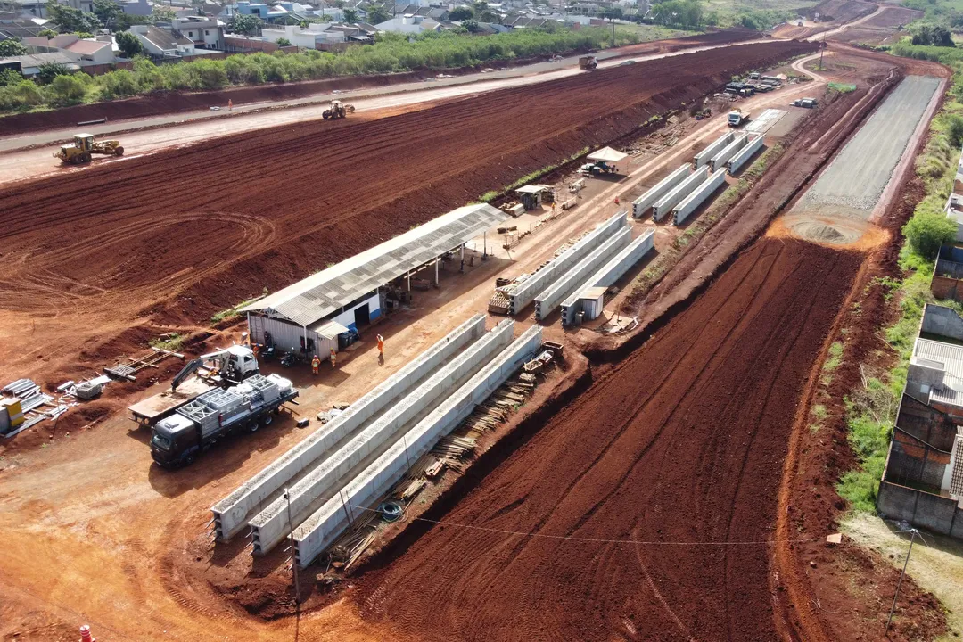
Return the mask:
{"type": "Polygon", "coordinates": [[[164,468],[190,466],[221,439],[273,424],[285,403],[297,403],[295,398],[294,384],[273,373],[255,374],[233,388],[206,392],[154,424],[150,456],[164,468]]]}

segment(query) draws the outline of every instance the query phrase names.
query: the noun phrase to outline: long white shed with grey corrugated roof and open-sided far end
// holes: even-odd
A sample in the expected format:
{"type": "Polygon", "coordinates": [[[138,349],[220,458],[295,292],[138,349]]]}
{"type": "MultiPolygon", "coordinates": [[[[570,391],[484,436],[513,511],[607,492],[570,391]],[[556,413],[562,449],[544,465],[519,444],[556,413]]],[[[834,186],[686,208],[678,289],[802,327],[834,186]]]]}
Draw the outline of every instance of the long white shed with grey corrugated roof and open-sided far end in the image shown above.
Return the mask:
{"type": "Polygon", "coordinates": [[[491,205],[467,205],[312,274],[246,307],[250,341],[275,350],[295,350],[325,359],[339,349],[339,336],[381,316],[385,286],[433,267],[459,252],[505,214],[491,205]]]}

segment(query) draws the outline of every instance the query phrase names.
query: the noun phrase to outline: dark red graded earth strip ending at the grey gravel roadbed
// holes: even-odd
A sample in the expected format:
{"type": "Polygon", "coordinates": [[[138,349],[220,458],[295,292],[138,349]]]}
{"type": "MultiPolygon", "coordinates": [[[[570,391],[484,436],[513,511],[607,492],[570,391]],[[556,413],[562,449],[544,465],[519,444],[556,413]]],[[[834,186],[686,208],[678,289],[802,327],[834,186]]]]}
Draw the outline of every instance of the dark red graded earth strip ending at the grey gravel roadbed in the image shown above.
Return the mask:
{"type": "Polygon", "coordinates": [[[440,517],[453,526],[363,578],[366,612],[424,640],[775,639],[760,542],[862,260],[753,245],[440,517]]]}

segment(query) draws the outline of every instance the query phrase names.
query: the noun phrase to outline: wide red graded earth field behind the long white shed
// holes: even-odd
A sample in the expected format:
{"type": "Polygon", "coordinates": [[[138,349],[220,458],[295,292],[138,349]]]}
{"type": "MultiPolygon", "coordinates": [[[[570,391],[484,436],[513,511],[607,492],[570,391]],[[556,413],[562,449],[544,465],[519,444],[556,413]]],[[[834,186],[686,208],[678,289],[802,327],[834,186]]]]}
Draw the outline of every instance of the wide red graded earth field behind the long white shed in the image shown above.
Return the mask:
{"type": "Polygon", "coordinates": [[[0,327],[32,329],[0,342],[0,363],[17,376],[59,379],[80,346],[119,328],[206,321],[453,203],[638,130],[735,73],[813,48],[737,45],[13,186],[0,193],[0,211],[10,213],[0,230],[0,327]]]}

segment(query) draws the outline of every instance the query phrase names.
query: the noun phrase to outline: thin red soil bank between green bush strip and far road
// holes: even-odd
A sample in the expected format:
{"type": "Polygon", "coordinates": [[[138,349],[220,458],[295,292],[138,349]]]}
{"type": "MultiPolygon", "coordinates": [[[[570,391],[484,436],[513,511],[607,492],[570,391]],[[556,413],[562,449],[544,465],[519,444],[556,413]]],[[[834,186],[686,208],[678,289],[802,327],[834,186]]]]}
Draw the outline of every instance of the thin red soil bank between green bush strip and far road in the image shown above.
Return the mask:
{"type": "MultiPolygon", "coordinates": [[[[758,38],[759,33],[748,29],[727,29],[690,36],[680,39],[655,40],[642,42],[617,49],[619,55],[657,54],[680,51],[691,47],[708,44],[724,44],[742,40],[758,38]]],[[[523,66],[542,62],[546,57],[519,59],[514,61],[489,61],[483,66],[523,66]]],[[[474,73],[477,66],[467,66],[458,69],[446,69],[446,73],[456,75],[474,73]]],[[[289,98],[303,98],[317,93],[329,93],[332,90],[356,90],[361,88],[392,87],[403,83],[422,81],[434,76],[434,71],[408,71],[378,76],[355,76],[351,78],[331,78],[327,80],[305,81],[301,83],[286,83],[274,85],[259,85],[253,87],[239,87],[217,91],[166,91],[153,93],[148,96],[115,100],[91,105],[75,105],[50,112],[34,112],[30,114],[15,114],[0,117],[0,137],[22,135],[26,132],[44,129],[72,127],[77,122],[109,118],[125,120],[129,118],[144,118],[147,116],[161,116],[165,114],[179,114],[206,110],[217,105],[225,107],[231,100],[235,105],[246,103],[270,102],[289,98]]]]}

